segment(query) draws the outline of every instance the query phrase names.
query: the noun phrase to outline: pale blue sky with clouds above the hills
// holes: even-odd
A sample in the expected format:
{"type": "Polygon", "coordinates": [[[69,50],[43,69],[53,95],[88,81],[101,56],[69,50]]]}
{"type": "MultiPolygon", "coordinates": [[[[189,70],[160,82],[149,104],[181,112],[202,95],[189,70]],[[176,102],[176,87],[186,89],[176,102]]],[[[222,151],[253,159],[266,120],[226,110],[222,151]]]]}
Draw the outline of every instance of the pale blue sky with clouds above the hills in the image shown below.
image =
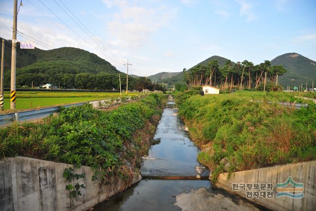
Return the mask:
{"type": "MultiPolygon", "coordinates": [[[[128,58],[131,74],[179,72],[213,55],[258,64],[296,52],[316,60],[316,0],[61,0],[90,36],[60,0],[41,1],[72,30],[40,0],[23,0],[20,32],[53,48],[96,53],[122,72],[128,58]]],[[[0,0],[5,39],[12,38],[12,7],[0,0]]]]}

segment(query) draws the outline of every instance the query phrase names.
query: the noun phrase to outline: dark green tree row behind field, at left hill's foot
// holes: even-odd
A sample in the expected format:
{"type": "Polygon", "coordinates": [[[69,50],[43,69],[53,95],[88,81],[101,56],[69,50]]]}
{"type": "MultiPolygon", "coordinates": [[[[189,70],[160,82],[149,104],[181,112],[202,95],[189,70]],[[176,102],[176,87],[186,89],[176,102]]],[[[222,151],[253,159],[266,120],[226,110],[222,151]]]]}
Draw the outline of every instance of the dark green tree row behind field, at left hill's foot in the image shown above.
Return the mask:
{"type": "MultiPolygon", "coordinates": [[[[121,89],[126,89],[126,74],[120,74],[121,89]]],[[[109,73],[60,73],[47,75],[44,73],[24,73],[17,74],[16,87],[40,87],[43,84],[52,84],[53,86],[65,89],[97,89],[97,90],[119,90],[118,74],[109,73]]],[[[6,74],[5,87],[10,87],[10,76],[6,74]]],[[[152,81],[145,77],[132,78],[128,77],[128,89],[138,90],[163,90],[159,84],[153,84],[152,81]]]]}

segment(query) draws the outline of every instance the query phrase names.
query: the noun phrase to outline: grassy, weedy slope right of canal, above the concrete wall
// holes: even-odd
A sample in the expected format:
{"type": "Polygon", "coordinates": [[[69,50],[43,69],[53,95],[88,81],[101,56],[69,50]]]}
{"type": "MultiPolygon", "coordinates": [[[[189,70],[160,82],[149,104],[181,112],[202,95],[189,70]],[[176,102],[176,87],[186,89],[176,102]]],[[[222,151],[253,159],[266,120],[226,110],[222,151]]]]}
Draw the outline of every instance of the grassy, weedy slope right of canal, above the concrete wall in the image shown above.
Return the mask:
{"type": "Polygon", "coordinates": [[[316,104],[311,100],[282,92],[196,93],[179,93],[176,102],[191,138],[202,149],[198,161],[212,170],[213,182],[221,172],[316,159],[316,104]],[[293,101],[309,106],[295,109],[277,103],[293,101]]]}

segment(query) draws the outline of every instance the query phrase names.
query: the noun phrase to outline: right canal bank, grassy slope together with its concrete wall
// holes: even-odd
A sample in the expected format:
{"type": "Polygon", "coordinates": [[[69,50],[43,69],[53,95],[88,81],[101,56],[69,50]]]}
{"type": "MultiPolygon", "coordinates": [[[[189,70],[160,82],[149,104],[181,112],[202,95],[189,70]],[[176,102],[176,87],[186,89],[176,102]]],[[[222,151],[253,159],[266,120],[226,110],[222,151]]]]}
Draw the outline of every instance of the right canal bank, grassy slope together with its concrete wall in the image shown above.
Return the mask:
{"type": "Polygon", "coordinates": [[[190,137],[201,148],[198,161],[212,171],[214,185],[273,210],[314,210],[315,162],[302,163],[316,160],[314,103],[301,109],[283,107],[278,102],[288,96],[278,92],[196,94],[180,93],[176,102],[190,137]],[[279,166],[284,164],[289,165],[279,166]]]}

